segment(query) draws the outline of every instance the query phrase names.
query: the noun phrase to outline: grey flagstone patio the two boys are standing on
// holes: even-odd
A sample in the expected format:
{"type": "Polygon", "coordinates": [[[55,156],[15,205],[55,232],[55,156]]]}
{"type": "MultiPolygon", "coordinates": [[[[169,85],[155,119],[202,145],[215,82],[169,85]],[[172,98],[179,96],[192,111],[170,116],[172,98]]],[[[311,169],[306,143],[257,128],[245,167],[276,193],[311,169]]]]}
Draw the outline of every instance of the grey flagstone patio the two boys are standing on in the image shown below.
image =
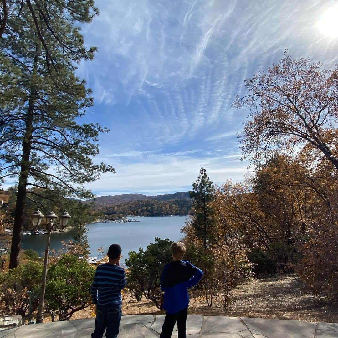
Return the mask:
{"type": "MultiPolygon", "coordinates": [[[[123,316],[118,338],[159,337],[163,321],[164,315],[123,316]]],[[[0,331],[0,338],[87,338],[94,327],[95,319],[32,324],[0,331]]],[[[338,324],[188,315],[187,334],[190,338],[337,338],[338,324]]]]}

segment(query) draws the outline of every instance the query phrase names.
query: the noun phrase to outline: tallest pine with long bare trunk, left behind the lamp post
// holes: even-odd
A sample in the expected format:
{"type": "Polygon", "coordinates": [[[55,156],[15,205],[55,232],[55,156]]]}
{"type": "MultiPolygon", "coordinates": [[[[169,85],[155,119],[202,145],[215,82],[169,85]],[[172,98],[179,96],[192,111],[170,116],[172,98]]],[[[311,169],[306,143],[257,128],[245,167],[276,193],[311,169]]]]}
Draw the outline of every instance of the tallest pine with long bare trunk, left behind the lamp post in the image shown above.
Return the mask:
{"type": "Polygon", "coordinates": [[[13,3],[11,10],[17,15],[8,17],[0,39],[0,96],[6,98],[0,105],[0,178],[18,180],[10,268],[19,263],[26,197],[39,195],[32,187],[90,198],[84,185],[102,172],[115,171],[93,163],[99,153],[98,135],[108,130],[97,123],[79,124],[93,98],[86,82],[75,75],[76,63],[93,59],[96,48],[84,46],[75,25],[97,13],[94,2],[26,4],[13,3]],[[4,92],[10,86],[15,89],[4,92]]]}

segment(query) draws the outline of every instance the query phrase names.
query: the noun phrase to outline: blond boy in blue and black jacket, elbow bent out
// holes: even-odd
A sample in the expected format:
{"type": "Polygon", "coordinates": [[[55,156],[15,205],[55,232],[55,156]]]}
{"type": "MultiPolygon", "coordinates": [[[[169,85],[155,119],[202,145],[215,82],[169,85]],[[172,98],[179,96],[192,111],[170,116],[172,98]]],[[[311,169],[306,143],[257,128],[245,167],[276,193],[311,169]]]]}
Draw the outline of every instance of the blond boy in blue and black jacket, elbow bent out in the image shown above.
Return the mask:
{"type": "Polygon", "coordinates": [[[163,309],[166,310],[160,338],[170,338],[177,320],[178,338],[186,338],[186,323],[189,305],[188,288],[196,285],[203,272],[188,261],[182,261],[186,247],[182,242],[171,245],[173,262],[167,264],[161,276],[164,291],[163,309]]]}

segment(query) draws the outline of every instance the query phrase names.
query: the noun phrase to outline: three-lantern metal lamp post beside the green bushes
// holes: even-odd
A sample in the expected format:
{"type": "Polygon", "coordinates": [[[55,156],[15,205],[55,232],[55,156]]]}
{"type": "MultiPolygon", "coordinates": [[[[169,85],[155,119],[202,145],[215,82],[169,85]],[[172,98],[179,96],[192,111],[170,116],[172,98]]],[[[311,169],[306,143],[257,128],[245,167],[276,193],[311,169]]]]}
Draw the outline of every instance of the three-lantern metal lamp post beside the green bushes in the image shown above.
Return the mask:
{"type": "Polygon", "coordinates": [[[49,254],[49,242],[50,242],[50,233],[52,231],[56,231],[56,229],[60,232],[65,231],[65,227],[67,226],[68,220],[71,218],[71,216],[68,214],[68,212],[65,210],[60,215],[60,226],[55,223],[55,219],[57,216],[53,211],[51,211],[47,216],[44,216],[40,210],[37,210],[31,215],[32,218],[32,224],[34,226],[34,231],[38,232],[40,228],[40,224],[43,218],[46,218],[46,224],[44,224],[42,227],[46,227],[47,230],[47,240],[46,240],[46,250],[45,250],[45,259],[43,264],[43,274],[42,274],[42,285],[41,285],[41,294],[39,299],[39,309],[38,309],[38,315],[37,315],[37,323],[43,322],[43,306],[45,302],[45,290],[46,290],[46,279],[47,279],[47,265],[48,265],[48,254],[49,254]]]}

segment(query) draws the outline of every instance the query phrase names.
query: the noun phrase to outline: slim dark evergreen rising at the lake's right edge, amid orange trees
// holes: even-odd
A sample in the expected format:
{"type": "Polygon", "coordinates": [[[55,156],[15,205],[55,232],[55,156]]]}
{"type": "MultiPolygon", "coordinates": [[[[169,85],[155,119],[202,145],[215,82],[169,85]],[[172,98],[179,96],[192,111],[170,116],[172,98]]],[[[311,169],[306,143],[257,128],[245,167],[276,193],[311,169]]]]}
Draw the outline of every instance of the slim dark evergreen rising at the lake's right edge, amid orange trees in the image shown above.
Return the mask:
{"type": "Polygon", "coordinates": [[[207,169],[201,168],[189,194],[191,198],[194,198],[193,207],[195,209],[195,216],[193,226],[196,229],[197,236],[203,238],[204,250],[207,250],[208,223],[211,221],[211,207],[209,203],[214,199],[214,193],[215,188],[207,175],[207,169]]]}

